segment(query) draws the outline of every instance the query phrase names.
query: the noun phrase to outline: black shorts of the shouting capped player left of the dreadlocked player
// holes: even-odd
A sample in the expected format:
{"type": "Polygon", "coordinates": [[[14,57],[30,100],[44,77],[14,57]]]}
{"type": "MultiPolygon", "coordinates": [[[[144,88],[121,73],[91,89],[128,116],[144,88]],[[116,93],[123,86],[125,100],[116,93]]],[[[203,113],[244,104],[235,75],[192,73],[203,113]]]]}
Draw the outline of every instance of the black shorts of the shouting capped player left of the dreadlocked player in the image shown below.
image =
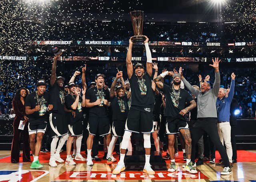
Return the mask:
{"type": "Polygon", "coordinates": [[[91,135],[96,135],[97,131],[100,137],[108,135],[111,133],[109,118],[89,117],[87,129],[91,135]]]}

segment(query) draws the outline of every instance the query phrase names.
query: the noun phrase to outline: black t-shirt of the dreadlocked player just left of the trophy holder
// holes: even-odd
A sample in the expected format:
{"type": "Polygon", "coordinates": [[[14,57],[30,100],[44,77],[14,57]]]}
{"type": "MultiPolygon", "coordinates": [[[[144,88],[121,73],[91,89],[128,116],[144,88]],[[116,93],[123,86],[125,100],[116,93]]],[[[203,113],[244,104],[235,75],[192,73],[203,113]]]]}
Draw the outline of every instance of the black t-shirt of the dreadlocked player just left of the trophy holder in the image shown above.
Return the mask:
{"type": "Polygon", "coordinates": [[[126,121],[129,107],[127,95],[124,95],[119,101],[116,96],[111,99],[112,120],[126,121]]]}

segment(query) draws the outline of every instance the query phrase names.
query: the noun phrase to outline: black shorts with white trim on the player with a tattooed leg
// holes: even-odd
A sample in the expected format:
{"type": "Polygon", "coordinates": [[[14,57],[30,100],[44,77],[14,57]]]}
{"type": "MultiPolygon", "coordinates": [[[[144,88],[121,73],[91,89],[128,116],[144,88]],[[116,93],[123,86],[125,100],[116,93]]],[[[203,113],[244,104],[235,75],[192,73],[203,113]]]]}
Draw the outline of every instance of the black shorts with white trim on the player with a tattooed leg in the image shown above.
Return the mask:
{"type": "Polygon", "coordinates": [[[179,133],[180,129],[189,129],[188,123],[180,118],[172,119],[172,117],[166,117],[167,135],[179,133]]]}

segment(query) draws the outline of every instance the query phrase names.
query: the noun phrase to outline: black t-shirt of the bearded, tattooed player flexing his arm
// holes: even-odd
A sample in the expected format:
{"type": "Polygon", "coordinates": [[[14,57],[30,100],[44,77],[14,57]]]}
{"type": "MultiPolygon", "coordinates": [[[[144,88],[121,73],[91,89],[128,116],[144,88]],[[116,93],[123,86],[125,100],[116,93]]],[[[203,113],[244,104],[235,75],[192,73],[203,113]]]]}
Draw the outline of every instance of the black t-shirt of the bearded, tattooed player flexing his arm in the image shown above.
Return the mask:
{"type": "MultiPolygon", "coordinates": [[[[186,103],[189,103],[190,101],[193,100],[192,96],[188,93],[188,91],[184,89],[180,89],[180,97],[178,99],[179,105],[178,107],[175,107],[171,99],[172,87],[164,84],[163,91],[166,97],[166,108],[165,108],[164,116],[172,117],[173,119],[182,118],[186,120],[186,115],[184,115],[183,117],[179,113],[182,109],[185,109],[186,103]]],[[[178,92],[178,90],[175,90],[175,91],[178,92]]]]}

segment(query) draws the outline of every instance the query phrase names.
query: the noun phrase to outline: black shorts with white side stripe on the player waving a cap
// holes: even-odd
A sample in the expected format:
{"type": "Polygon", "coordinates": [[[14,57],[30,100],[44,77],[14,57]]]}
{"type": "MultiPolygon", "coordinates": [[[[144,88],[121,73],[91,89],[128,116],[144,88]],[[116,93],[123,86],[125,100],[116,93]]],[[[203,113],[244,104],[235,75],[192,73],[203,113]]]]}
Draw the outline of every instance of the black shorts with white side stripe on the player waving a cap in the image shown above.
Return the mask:
{"type": "Polygon", "coordinates": [[[60,137],[68,134],[68,123],[66,117],[59,113],[51,113],[49,117],[52,137],[60,137]]]}

